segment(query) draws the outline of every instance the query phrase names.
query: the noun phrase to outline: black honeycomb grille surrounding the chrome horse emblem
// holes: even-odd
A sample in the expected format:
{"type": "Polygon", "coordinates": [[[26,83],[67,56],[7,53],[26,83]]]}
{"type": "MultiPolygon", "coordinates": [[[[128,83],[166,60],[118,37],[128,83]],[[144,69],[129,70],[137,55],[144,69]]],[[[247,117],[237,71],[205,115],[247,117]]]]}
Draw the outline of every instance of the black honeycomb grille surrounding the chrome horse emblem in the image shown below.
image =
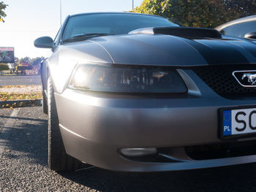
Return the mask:
{"type": "Polygon", "coordinates": [[[255,70],[256,66],[248,67],[217,67],[208,66],[194,69],[193,71],[219,95],[228,99],[235,99],[239,96],[256,96],[256,88],[244,88],[233,77],[234,71],[255,70]]]}

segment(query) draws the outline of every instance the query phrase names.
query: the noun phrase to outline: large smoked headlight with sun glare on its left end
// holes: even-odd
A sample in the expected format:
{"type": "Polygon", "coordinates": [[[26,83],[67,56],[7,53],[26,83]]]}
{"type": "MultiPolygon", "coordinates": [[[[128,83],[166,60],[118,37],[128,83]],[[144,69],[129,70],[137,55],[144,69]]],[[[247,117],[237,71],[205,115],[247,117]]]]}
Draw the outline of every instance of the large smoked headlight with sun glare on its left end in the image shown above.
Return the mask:
{"type": "Polygon", "coordinates": [[[187,93],[176,70],[151,66],[78,65],[68,87],[117,93],[187,93]]]}

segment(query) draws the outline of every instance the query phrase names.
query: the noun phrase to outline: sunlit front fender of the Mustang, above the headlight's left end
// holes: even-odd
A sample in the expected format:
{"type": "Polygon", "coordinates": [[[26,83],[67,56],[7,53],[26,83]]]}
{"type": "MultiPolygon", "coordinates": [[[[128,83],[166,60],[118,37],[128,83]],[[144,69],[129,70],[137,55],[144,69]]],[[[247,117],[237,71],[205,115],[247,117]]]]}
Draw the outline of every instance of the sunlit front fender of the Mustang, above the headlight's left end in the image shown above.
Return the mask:
{"type": "Polygon", "coordinates": [[[113,60],[108,52],[95,42],[59,45],[46,61],[48,75],[52,77],[56,93],[62,93],[67,88],[72,72],[78,64],[113,64],[113,60]]]}

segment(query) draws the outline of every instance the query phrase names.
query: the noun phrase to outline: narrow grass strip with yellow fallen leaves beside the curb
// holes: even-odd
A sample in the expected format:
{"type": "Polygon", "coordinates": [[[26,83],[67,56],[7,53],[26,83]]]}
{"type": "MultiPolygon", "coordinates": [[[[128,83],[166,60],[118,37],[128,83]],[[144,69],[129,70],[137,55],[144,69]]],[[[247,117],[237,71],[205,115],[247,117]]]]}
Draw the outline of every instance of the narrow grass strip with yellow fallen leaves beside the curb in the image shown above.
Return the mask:
{"type": "Polygon", "coordinates": [[[0,101],[42,99],[42,93],[0,93],[0,101]]]}

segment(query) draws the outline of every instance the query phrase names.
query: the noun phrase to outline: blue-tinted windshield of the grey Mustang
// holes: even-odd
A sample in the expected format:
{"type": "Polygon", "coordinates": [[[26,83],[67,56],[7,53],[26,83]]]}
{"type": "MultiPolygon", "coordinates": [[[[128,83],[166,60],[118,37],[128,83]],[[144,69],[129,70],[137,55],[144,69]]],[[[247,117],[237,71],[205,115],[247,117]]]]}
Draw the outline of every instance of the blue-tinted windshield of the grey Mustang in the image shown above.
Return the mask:
{"type": "Polygon", "coordinates": [[[135,14],[92,14],[69,18],[63,40],[83,34],[128,34],[137,28],[178,26],[166,18],[135,14]]]}

